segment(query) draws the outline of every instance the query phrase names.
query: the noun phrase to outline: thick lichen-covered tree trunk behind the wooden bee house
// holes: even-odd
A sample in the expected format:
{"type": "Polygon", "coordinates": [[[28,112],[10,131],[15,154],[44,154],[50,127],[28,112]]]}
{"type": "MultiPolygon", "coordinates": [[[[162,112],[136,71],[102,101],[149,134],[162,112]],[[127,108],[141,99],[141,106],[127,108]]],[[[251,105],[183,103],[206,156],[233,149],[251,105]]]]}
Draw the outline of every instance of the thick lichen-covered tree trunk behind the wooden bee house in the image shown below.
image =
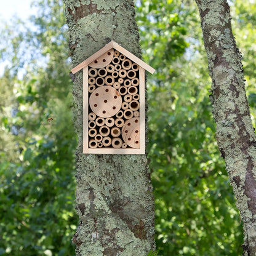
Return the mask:
{"type": "MultiPolygon", "coordinates": [[[[72,65],[112,39],[141,57],[132,0],[64,0],[72,65]]],[[[82,154],[82,71],[75,75],[76,255],[147,255],[154,249],[154,201],[146,155],[82,154]]]]}

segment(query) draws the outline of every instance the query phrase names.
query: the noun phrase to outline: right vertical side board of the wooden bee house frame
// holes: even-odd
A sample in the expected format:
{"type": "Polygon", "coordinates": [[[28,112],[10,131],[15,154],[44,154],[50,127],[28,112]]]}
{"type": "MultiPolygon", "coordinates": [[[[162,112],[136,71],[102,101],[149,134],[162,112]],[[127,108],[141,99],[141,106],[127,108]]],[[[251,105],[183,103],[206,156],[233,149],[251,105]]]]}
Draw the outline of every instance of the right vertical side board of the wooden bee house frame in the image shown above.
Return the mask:
{"type": "Polygon", "coordinates": [[[145,70],[140,66],[140,150],[145,154],[145,70]]]}

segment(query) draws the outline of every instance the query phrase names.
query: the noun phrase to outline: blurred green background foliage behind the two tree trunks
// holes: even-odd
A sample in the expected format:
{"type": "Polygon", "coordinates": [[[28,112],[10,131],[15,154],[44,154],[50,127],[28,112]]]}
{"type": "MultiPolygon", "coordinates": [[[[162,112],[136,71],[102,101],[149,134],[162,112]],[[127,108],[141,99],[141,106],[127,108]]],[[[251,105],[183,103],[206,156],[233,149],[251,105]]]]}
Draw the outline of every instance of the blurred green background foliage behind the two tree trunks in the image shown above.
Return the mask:
{"type": "MultiPolygon", "coordinates": [[[[255,124],[256,7],[229,1],[255,124]]],[[[148,156],[159,255],[241,255],[242,223],[215,142],[210,78],[192,0],[137,0],[148,76],[148,156]]],[[[75,110],[64,7],[35,0],[1,26],[0,255],[74,255],[75,110]]]]}

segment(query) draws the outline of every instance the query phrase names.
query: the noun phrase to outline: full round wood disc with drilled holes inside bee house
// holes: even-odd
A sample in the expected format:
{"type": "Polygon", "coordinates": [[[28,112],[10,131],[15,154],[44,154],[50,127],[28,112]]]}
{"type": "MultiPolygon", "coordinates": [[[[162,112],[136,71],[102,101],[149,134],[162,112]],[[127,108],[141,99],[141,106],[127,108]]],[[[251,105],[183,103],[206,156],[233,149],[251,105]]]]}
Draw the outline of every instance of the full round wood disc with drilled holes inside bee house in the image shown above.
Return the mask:
{"type": "Polygon", "coordinates": [[[113,87],[101,86],[90,95],[89,104],[97,116],[110,118],[121,109],[122,97],[113,87]]]}

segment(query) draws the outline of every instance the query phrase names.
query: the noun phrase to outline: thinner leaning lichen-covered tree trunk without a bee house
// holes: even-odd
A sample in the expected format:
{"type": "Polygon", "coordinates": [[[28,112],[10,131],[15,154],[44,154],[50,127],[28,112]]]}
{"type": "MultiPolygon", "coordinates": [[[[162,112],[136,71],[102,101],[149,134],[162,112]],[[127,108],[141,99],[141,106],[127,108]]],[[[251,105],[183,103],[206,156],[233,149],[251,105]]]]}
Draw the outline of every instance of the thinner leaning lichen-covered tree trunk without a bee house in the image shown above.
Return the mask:
{"type": "Polygon", "coordinates": [[[220,153],[244,225],[244,255],[256,255],[256,137],[246,98],[241,53],[226,0],[196,0],[212,78],[212,113],[220,153]]]}

